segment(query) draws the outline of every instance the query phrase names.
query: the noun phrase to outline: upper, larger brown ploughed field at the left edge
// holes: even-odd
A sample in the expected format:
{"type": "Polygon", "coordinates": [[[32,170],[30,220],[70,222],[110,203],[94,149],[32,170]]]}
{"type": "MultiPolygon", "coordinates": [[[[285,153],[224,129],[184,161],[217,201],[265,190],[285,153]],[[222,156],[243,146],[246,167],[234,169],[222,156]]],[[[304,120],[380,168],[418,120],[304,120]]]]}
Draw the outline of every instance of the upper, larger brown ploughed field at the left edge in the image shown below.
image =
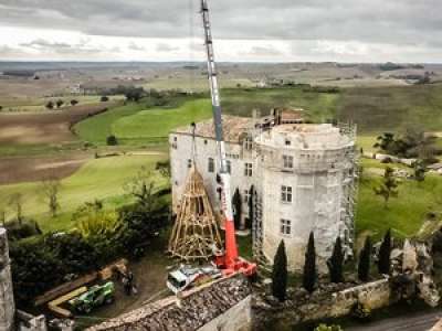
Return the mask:
{"type": "Polygon", "coordinates": [[[70,129],[74,124],[113,105],[114,103],[101,103],[41,114],[0,114],[0,145],[73,141],[76,137],[70,129]]]}

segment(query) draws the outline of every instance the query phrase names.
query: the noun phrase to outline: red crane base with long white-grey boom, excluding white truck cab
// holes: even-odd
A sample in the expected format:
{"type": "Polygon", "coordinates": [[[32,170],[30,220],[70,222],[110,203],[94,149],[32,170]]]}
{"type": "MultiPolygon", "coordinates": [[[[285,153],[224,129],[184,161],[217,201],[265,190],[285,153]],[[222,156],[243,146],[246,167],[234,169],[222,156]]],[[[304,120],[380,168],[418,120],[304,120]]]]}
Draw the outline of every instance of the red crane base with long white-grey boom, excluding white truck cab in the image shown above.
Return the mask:
{"type": "Polygon", "coordinates": [[[253,276],[256,273],[256,265],[250,263],[238,255],[235,227],[232,212],[232,197],[230,188],[230,173],[227,166],[225,143],[222,127],[222,109],[220,89],[218,86],[218,73],[214,62],[213,40],[210,26],[209,7],[207,0],[201,0],[201,14],[204,28],[204,42],[208,60],[208,76],[210,93],[212,97],[213,122],[217,138],[217,149],[220,162],[219,177],[221,179],[221,209],[224,214],[225,227],[225,249],[215,258],[217,267],[223,270],[224,275],[242,273],[245,276],[253,276]]]}

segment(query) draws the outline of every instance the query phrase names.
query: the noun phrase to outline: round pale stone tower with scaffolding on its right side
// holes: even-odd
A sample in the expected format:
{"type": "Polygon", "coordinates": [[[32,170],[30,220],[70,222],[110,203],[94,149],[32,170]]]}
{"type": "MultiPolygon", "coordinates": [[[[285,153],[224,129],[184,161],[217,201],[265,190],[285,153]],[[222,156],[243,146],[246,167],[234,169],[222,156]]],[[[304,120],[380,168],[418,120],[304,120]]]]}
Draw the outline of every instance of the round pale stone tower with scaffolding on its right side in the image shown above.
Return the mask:
{"type": "Polygon", "coordinates": [[[352,137],[327,124],[281,125],[262,132],[255,142],[264,256],[272,261],[283,239],[290,269],[299,270],[313,232],[324,270],[338,236],[347,248],[351,246],[352,137]]]}

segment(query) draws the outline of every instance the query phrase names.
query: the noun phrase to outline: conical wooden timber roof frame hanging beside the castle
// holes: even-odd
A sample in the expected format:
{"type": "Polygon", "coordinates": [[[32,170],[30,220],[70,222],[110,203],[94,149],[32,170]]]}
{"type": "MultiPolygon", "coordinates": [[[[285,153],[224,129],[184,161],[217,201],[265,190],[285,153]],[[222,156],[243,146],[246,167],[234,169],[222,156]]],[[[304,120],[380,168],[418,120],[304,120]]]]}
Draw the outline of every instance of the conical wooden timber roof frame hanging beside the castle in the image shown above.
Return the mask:
{"type": "Polygon", "coordinates": [[[173,257],[186,261],[208,260],[221,245],[219,223],[202,177],[192,162],[168,250],[173,257]]]}

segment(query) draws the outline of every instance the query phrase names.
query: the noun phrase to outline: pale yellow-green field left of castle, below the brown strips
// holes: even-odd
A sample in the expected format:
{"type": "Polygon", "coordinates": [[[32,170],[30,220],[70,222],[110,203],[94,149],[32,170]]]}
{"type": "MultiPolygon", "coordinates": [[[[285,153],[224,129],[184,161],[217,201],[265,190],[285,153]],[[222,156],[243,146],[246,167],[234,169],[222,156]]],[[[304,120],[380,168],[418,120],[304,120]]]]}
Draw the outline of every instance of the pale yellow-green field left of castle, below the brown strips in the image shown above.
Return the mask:
{"type": "MultiPolygon", "coordinates": [[[[83,166],[76,173],[62,181],[60,191],[61,214],[51,218],[48,205],[41,194],[40,183],[22,183],[0,186],[0,201],[7,206],[9,197],[20,192],[23,194],[23,215],[34,217],[44,231],[66,229],[72,226],[71,215],[76,207],[95,199],[104,200],[107,206],[124,202],[124,184],[146,167],[154,169],[162,157],[124,156],[95,159],[83,166]]],[[[158,177],[158,184],[165,180],[158,177]]],[[[7,217],[13,216],[13,211],[7,209],[7,217]]]]}

